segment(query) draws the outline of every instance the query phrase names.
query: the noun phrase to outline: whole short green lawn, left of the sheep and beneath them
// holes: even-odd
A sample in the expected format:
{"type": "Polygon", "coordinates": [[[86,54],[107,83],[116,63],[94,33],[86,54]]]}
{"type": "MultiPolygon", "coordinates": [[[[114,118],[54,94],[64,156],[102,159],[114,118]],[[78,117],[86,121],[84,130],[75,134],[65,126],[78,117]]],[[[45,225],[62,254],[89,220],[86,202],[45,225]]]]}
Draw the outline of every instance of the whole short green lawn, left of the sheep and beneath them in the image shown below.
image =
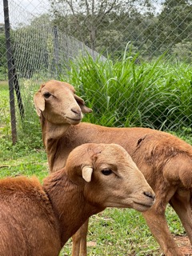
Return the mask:
{"type": "MultiPolygon", "coordinates": [[[[46,152],[43,147],[35,148],[27,142],[27,138],[20,140],[15,146],[11,144],[7,82],[0,82],[0,97],[0,178],[23,174],[36,175],[42,181],[48,174],[46,152]]],[[[178,217],[170,207],[166,215],[171,232],[183,234],[178,217]]],[[[90,218],[87,239],[89,255],[162,255],[142,214],[135,210],[106,209],[101,214],[94,215],[90,218]]],[[[71,240],[66,243],[61,255],[70,254],[71,240]]]]}

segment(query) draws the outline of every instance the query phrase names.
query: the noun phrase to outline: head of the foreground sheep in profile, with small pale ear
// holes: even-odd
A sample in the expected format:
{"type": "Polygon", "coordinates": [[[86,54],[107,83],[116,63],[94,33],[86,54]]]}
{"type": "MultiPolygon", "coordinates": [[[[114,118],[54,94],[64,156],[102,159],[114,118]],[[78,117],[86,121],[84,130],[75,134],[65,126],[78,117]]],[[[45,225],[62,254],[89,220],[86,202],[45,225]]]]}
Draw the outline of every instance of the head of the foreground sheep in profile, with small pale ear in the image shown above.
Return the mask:
{"type": "Polygon", "coordinates": [[[154,191],[122,146],[78,146],[66,161],[66,172],[93,205],[145,211],[154,204],[154,191]]]}

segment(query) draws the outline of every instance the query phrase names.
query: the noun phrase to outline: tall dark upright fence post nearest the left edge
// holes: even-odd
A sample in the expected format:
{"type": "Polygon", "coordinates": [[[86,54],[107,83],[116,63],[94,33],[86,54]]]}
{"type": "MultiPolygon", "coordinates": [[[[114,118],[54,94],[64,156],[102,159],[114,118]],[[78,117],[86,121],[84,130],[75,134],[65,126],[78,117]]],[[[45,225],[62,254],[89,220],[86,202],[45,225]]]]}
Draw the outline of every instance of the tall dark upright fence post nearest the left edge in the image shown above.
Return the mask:
{"type": "Polygon", "coordinates": [[[11,122],[11,134],[12,142],[17,142],[17,128],[16,128],[16,116],[14,106],[14,66],[13,66],[13,54],[10,42],[10,18],[8,0],[3,0],[4,9],[4,21],[5,21],[5,33],[6,33],[6,54],[7,54],[7,66],[8,66],[8,78],[9,78],[9,90],[10,90],[10,122],[11,122]]]}

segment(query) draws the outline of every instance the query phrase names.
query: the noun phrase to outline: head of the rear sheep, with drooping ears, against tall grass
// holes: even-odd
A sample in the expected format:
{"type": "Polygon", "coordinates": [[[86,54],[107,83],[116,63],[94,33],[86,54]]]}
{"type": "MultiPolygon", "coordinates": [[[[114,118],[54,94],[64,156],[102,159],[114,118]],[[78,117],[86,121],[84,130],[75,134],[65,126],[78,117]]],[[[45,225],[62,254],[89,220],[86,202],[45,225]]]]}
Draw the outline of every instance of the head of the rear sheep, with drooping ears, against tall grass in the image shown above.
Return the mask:
{"type": "Polygon", "coordinates": [[[92,110],[86,107],[83,99],[74,92],[74,86],[67,82],[46,82],[34,94],[34,106],[38,116],[43,114],[47,121],[54,124],[78,124],[83,114],[92,110]]]}

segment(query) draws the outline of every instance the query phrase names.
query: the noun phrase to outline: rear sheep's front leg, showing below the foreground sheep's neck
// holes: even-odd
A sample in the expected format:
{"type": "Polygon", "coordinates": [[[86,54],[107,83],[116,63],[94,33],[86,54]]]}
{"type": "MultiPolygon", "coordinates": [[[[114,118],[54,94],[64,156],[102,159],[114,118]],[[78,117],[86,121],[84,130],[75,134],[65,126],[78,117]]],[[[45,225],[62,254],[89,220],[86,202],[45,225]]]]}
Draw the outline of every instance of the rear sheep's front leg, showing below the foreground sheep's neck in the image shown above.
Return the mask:
{"type": "Polygon", "coordinates": [[[88,230],[89,219],[73,235],[72,256],[86,256],[86,234],[88,230]]]}

